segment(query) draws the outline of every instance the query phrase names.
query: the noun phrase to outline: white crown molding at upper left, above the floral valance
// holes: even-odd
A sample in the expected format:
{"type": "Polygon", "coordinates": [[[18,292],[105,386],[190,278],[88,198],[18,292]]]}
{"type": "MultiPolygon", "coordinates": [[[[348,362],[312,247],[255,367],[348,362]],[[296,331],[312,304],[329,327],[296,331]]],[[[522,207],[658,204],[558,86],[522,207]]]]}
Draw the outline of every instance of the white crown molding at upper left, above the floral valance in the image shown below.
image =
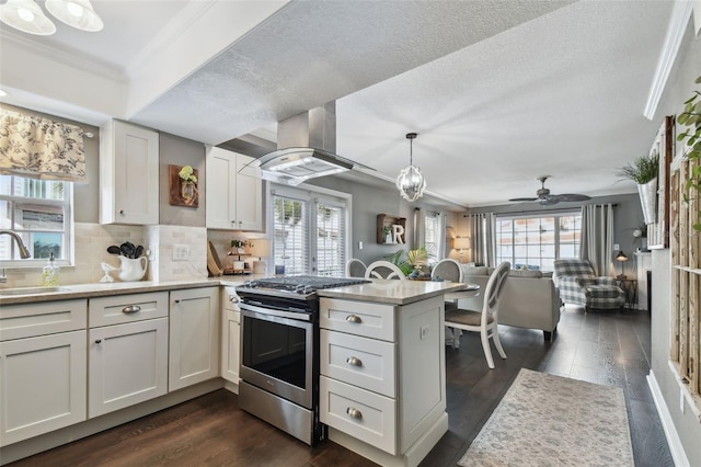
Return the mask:
{"type": "Polygon", "coordinates": [[[20,34],[8,29],[0,30],[0,43],[2,48],[14,47],[23,53],[37,55],[47,61],[60,62],[72,68],[77,68],[80,71],[87,73],[99,75],[103,78],[126,82],[126,76],[124,72],[107,62],[95,60],[94,57],[82,55],[76,52],[69,52],[67,49],[41,44],[39,42],[27,37],[26,34],[20,34]]]}

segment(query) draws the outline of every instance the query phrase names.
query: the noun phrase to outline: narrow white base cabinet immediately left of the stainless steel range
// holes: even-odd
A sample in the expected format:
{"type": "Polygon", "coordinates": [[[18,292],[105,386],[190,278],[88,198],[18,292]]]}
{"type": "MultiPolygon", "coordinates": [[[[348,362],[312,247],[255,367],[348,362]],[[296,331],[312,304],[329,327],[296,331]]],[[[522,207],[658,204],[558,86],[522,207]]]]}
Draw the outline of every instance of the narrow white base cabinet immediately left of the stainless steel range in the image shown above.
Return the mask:
{"type": "Polygon", "coordinates": [[[222,288],[221,301],[221,377],[238,385],[241,361],[241,311],[233,287],[222,288]]]}

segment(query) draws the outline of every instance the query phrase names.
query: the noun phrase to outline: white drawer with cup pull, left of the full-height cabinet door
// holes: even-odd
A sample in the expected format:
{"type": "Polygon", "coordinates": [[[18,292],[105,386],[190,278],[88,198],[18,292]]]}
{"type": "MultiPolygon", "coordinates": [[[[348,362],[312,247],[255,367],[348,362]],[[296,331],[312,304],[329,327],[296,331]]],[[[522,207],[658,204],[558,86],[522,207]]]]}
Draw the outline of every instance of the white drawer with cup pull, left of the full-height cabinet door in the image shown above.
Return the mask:
{"type": "Polygon", "coordinates": [[[91,328],[162,318],[168,316],[168,292],[91,298],[89,305],[91,328]]]}

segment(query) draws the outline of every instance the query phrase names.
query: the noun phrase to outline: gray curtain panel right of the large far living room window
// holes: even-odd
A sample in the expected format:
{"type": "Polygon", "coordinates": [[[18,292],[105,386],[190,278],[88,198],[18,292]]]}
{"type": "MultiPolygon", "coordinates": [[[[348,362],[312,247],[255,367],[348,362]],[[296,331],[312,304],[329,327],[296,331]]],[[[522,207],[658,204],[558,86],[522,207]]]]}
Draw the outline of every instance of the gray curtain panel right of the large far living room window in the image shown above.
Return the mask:
{"type": "Polygon", "coordinates": [[[582,206],[579,259],[589,260],[598,276],[613,275],[613,206],[582,206]]]}

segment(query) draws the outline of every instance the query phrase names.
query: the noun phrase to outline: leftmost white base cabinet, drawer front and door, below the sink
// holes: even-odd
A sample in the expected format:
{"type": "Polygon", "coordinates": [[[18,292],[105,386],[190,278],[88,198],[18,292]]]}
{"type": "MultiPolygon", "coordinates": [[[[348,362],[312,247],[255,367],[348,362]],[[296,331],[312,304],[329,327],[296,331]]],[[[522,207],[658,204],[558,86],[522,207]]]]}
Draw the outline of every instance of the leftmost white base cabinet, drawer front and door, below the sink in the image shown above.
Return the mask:
{"type": "Polygon", "coordinates": [[[87,300],[9,305],[0,316],[0,446],[87,418],[87,300]]]}

